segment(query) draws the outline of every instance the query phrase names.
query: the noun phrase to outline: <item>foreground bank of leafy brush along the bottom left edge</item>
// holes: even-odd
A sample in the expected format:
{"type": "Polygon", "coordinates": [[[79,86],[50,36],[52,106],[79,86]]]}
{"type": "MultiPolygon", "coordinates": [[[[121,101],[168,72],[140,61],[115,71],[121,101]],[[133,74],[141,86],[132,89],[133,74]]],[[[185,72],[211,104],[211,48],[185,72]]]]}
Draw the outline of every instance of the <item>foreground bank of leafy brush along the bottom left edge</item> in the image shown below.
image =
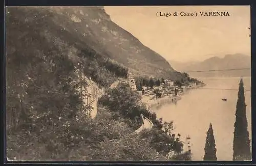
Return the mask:
{"type": "Polygon", "coordinates": [[[17,135],[17,138],[8,135],[9,159],[158,160],[156,151],[148,141],[140,139],[122,119],[113,120],[113,115],[106,109],[100,112],[94,120],[78,120],[66,126],[65,130],[49,130],[44,133],[45,139],[41,141],[41,136],[32,137],[29,133],[17,135]],[[23,142],[25,136],[28,140],[23,142]]]}

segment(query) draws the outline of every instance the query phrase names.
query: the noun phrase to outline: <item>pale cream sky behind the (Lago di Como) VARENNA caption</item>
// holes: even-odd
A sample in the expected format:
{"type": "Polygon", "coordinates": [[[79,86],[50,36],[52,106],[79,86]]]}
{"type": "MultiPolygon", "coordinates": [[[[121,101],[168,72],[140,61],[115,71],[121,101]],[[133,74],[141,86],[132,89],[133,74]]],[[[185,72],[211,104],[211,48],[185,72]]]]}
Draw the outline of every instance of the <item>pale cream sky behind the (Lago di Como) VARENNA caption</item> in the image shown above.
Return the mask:
{"type": "Polygon", "coordinates": [[[111,20],[166,60],[203,61],[212,56],[250,56],[249,6],[105,6],[111,20]],[[223,11],[230,16],[200,16],[223,11]],[[156,13],[158,12],[158,17],[156,13]],[[159,13],[195,16],[159,16],[159,13]],[[195,15],[195,14],[194,14],[195,15]]]}

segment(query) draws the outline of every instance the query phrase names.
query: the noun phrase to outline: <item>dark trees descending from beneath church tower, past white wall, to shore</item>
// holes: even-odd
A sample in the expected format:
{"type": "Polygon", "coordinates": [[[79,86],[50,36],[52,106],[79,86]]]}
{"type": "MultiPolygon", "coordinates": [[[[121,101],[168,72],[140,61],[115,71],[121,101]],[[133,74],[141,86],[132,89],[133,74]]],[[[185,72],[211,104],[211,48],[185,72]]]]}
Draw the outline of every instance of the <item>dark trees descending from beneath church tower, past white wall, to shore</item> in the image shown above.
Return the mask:
{"type": "Polygon", "coordinates": [[[172,150],[176,153],[181,153],[183,144],[179,139],[170,136],[173,129],[173,122],[162,123],[161,119],[157,120],[156,114],[150,113],[140,104],[139,100],[140,96],[136,92],[133,92],[128,85],[119,84],[117,88],[107,91],[99,100],[99,103],[108,107],[114,115],[118,115],[115,117],[129,119],[124,120],[124,122],[134,130],[142,125],[140,115],[143,114],[155,124],[155,127],[150,131],[143,131],[141,133],[141,139],[148,139],[150,146],[161,155],[165,156],[172,150]],[[162,130],[164,127],[167,132],[166,130],[162,130]]]}

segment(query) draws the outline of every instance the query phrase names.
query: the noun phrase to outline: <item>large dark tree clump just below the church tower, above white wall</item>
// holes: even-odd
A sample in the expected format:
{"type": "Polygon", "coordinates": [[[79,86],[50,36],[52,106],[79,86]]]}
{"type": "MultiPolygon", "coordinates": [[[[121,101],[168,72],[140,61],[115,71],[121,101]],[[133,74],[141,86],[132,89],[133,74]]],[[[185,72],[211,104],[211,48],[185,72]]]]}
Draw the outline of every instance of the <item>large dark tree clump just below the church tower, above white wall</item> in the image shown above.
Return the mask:
{"type": "Polygon", "coordinates": [[[121,83],[114,89],[106,90],[105,95],[99,99],[99,103],[112,112],[118,113],[122,118],[130,119],[129,126],[133,129],[142,125],[141,114],[159,126],[160,122],[156,119],[156,114],[150,113],[140,99],[140,95],[132,91],[129,85],[121,83]]]}

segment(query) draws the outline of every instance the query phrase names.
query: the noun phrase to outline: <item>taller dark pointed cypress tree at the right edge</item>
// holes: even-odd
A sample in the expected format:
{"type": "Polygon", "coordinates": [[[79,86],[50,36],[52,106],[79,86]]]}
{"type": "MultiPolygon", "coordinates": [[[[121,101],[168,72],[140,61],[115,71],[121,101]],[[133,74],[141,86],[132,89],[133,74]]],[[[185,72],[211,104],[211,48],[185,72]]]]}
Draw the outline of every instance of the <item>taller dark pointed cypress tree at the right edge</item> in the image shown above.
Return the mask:
{"type": "Polygon", "coordinates": [[[243,79],[239,83],[236,122],[234,123],[233,160],[250,160],[250,140],[247,129],[243,79]]]}

